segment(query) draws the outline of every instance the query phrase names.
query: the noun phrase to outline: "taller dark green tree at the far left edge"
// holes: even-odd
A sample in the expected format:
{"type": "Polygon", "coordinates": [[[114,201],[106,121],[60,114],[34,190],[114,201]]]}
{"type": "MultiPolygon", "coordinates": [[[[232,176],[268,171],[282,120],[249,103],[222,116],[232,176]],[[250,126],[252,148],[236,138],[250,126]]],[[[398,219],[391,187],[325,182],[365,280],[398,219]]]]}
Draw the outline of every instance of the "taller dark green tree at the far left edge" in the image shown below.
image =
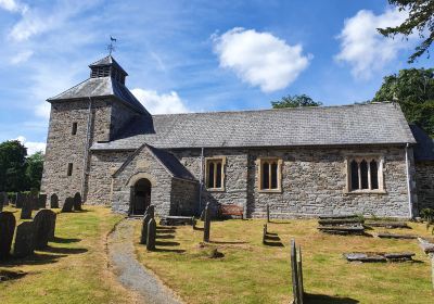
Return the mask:
{"type": "Polygon", "coordinates": [[[0,191],[22,191],[26,188],[27,149],[18,140],[0,143],[0,191]]]}

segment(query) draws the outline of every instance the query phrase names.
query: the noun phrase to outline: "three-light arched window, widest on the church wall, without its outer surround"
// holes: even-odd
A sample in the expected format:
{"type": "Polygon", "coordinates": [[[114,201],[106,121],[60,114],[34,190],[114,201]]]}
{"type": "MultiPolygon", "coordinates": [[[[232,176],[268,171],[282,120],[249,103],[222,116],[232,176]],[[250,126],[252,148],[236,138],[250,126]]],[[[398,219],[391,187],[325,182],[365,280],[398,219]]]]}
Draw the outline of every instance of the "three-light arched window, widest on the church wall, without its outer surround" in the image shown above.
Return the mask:
{"type": "Polygon", "coordinates": [[[383,190],[381,162],[379,157],[354,157],[348,160],[348,190],[383,190]]]}

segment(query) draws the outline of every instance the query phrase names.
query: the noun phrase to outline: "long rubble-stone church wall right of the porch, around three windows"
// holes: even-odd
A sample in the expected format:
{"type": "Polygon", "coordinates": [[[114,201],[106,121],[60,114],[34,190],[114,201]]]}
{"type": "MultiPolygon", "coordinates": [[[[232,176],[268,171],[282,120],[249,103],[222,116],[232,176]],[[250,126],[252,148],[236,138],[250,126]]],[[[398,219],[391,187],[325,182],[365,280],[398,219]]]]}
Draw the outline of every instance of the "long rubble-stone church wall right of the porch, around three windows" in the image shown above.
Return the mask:
{"type": "MultiPolygon", "coordinates": [[[[173,151],[199,179],[201,151],[173,151]]],[[[411,152],[411,150],[410,150],[411,152]]],[[[244,205],[248,217],[265,216],[267,203],[273,217],[358,213],[408,217],[408,189],[404,147],[390,148],[292,148],[292,149],[205,149],[204,156],[226,155],[225,191],[203,192],[214,204],[244,205]],[[345,159],[375,154],[384,157],[385,193],[346,193],[345,159]],[[263,193],[257,189],[256,160],[283,160],[282,191],[263,193]]]]}

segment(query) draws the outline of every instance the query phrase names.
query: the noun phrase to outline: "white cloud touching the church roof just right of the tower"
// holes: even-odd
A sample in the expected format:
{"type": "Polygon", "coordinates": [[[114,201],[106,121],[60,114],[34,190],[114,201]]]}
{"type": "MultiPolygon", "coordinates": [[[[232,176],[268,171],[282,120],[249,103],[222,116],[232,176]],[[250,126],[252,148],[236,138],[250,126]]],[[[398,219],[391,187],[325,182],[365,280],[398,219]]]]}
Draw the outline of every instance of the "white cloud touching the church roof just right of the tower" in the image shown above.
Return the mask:
{"type": "Polygon", "coordinates": [[[131,92],[151,114],[176,114],[190,112],[177,92],[158,94],[157,91],[132,89],[131,92]]]}

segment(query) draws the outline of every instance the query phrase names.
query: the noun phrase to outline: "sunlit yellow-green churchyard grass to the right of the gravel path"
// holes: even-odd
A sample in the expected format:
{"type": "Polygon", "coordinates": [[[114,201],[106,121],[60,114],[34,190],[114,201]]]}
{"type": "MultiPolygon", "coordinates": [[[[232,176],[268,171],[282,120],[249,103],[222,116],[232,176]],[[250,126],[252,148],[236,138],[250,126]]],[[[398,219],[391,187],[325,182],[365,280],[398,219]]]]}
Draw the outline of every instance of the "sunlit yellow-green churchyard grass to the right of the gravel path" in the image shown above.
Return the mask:
{"type": "MultiPolygon", "coordinates": [[[[158,251],[146,252],[138,242],[136,250],[142,264],[192,304],[289,303],[291,238],[302,245],[308,303],[433,303],[430,259],[416,240],[329,236],[317,231],[315,220],[289,220],[268,225],[283,244],[268,246],[261,244],[263,225],[258,219],[213,221],[212,242],[202,245],[203,231],[177,227],[168,233],[174,239],[158,240],[166,242],[158,251]],[[215,248],[225,257],[209,258],[215,248]],[[350,264],[342,253],[353,251],[411,251],[417,262],[350,264]]],[[[394,231],[429,236],[423,224],[410,225],[411,230],[394,231]]],[[[137,241],[140,228],[138,221],[137,241]]]]}

